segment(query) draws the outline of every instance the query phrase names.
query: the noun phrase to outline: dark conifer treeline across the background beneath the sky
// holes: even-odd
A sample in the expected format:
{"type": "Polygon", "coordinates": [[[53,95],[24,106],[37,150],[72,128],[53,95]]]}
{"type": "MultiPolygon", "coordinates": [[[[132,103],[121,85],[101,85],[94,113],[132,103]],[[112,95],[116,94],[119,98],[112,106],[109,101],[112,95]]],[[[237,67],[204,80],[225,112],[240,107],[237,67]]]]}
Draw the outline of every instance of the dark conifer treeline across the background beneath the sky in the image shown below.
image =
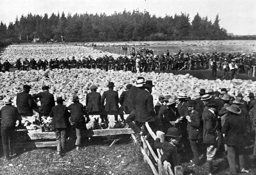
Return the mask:
{"type": "Polygon", "coordinates": [[[192,22],[189,14],[156,17],[149,12],[123,11],[112,15],[74,14],[66,16],[48,14],[18,16],[14,24],[0,25],[0,38],[13,42],[94,42],[94,41],[155,41],[155,40],[225,40],[231,39],[227,31],[219,26],[219,15],[214,22],[197,13],[192,22]]]}

